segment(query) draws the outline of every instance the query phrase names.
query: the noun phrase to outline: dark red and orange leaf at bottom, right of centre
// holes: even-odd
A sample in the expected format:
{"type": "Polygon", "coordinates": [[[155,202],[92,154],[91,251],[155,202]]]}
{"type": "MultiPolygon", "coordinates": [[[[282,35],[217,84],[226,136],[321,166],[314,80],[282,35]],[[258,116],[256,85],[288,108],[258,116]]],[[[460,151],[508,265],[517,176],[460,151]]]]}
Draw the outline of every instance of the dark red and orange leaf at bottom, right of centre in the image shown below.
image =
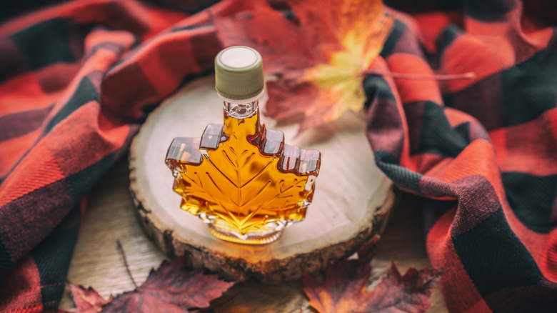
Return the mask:
{"type": "MultiPolygon", "coordinates": [[[[361,252],[360,252],[361,253],[361,252]]],[[[366,253],[371,250],[366,247],[366,253]]],[[[401,276],[394,263],[386,277],[367,291],[371,276],[368,256],[361,259],[336,260],[325,270],[325,282],[303,274],[303,291],[309,304],[318,312],[425,312],[429,297],[441,279],[441,272],[411,267],[401,276]]]]}

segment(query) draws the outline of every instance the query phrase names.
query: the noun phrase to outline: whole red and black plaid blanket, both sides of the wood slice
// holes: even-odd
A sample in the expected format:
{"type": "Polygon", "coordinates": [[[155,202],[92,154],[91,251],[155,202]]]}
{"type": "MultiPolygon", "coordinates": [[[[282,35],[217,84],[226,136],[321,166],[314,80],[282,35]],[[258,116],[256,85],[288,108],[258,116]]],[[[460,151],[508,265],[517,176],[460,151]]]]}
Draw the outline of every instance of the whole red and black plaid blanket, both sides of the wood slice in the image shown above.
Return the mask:
{"type": "MultiPolygon", "coordinates": [[[[149,111],[211,71],[213,2],[70,1],[0,25],[1,312],[58,306],[86,193],[149,111]]],[[[543,2],[386,1],[409,13],[386,71],[475,74],[363,81],[376,164],[423,196],[452,312],[557,307],[557,10],[543,2]]]]}

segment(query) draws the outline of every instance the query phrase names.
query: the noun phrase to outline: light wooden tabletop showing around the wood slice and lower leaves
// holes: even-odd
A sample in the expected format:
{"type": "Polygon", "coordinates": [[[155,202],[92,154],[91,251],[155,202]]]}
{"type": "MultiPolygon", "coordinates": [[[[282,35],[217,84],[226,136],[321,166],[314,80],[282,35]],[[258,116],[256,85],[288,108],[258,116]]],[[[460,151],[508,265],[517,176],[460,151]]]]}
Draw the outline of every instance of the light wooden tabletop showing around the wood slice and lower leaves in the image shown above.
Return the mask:
{"type": "MultiPolygon", "coordinates": [[[[144,282],[151,268],[159,267],[165,259],[164,254],[146,237],[137,220],[128,190],[128,175],[128,163],[121,160],[90,192],[89,206],[69,269],[69,282],[94,287],[103,297],[134,289],[116,248],[116,239],[124,247],[131,274],[138,284],[144,282]]],[[[401,272],[411,266],[419,269],[430,265],[423,239],[421,213],[408,208],[412,201],[412,197],[404,197],[393,209],[373,259],[373,277],[381,277],[390,267],[391,260],[396,262],[401,272]]],[[[299,282],[277,286],[237,285],[233,289],[236,296],[226,303],[226,307],[217,308],[216,312],[314,312],[308,307],[299,282]]],[[[428,312],[447,311],[438,288],[433,292],[431,302],[428,312]]],[[[67,288],[60,308],[75,310],[67,288]]]]}

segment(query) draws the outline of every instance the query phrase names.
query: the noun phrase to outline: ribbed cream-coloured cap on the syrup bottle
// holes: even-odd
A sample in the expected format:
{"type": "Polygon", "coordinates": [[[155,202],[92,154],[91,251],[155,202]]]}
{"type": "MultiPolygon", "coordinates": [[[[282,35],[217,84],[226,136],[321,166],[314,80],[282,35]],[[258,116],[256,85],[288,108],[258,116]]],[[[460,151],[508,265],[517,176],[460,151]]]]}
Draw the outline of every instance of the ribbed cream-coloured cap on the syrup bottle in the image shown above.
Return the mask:
{"type": "Polygon", "coordinates": [[[216,92],[225,99],[246,100],[264,89],[261,54],[247,46],[231,46],[215,58],[216,92]]]}

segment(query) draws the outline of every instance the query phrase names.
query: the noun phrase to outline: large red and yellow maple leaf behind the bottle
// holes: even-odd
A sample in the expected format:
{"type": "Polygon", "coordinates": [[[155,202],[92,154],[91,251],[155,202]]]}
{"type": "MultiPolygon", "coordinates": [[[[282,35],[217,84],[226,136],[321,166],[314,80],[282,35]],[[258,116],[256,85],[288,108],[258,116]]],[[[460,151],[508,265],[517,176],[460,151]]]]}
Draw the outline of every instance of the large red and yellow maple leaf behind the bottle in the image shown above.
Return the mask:
{"type": "Polygon", "coordinates": [[[393,24],[381,0],[289,0],[293,18],[266,1],[237,2],[236,13],[213,20],[224,46],[254,47],[276,76],[264,114],[303,114],[303,131],[363,109],[363,77],[393,24]]]}

